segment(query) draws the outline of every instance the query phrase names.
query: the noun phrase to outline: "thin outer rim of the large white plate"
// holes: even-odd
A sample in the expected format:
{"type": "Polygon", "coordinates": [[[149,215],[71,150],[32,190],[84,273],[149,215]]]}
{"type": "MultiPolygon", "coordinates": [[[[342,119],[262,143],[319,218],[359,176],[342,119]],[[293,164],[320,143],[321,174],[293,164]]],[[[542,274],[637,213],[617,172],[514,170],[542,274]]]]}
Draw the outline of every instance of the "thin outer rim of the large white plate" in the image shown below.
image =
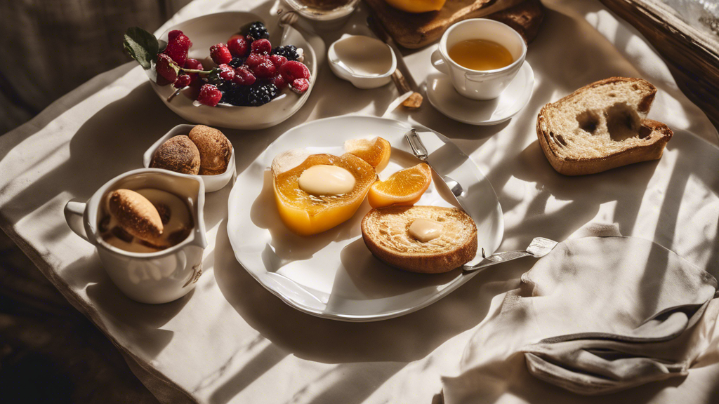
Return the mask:
{"type": "MultiPolygon", "coordinates": [[[[300,124],[296,127],[292,127],[290,129],[288,129],[287,131],[285,131],[283,134],[280,134],[280,136],[277,139],[275,139],[272,143],[268,144],[267,147],[265,147],[265,150],[263,150],[260,153],[260,155],[257,155],[257,157],[255,157],[255,160],[252,160],[252,162],[250,162],[249,165],[247,165],[247,167],[242,172],[237,173],[237,177],[239,178],[240,175],[244,174],[245,171],[249,170],[249,168],[252,166],[253,163],[257,162],[257,160],[260,160],[260,158],[262,158],[265,155],[265,153],[267,152],[267,150],[270,149],[270,147],[273,147],[273,145],[275,145],[275,143],[280,142],[280,140],[283,137],[285,137],[285,135],[288,134],[289,132],[293,132],[293,131],[298,130],[305,126],[317,124],[318,122],[343,120],[343,119],[367,119],[367,120],[372,120],[372,121],[380,121],[380,122],[384,122],[385,124],[394,124],[394,125],[398,125],[400,127],[407,127],[407,129],[414,127],[416,129],[421,129],[421,131],[423,131],[423,132],[426,131],[426,132],[432,132],[432,133],[436,134],[436,136],[439,137],[439,139],[442,142],[445,142],[445,143],[452,142],[452,140],[449,139],[448,137],[444,136],[444,134],[436,132],[436,131],[429,129],[428,127],[425,127],[424,125],[418,124],[418,123],[410,124],[409,122],[398,121],[397,119],[383,118],[380,116],[367,116],[367,115],[361,115],[361,114],[347,114],[347,115],[342,115],[342,116],[331,116],[328,118],[315,119],[313,121],[304,122],[303,124],[300,124]]],[[[454,142],[452,142],[452,143],[454,144],[454,142]]],[[[459,146],[457,146],[457,144],[454,144],[454,147],[457,147],[457,149],[459,149],[459,146]]],[[[461,151],[461,149],[460,149],[460,151],[461,151]]],[[[502,209],[502,205],[497,196],[497,192],[495,191],[492,183],[490,183],[490,181],[487,178],[487,176],[485,175],[485,173],[472,160],[472,158],[470,156],[467,156],[467,157],[470,159],[472,164],[474,164],[475,167],[477,167],[477,171],[479,171],[479,173],[482,174],[482,177],[487,179],[487,183],[490,185],[490,189],[492,190],[493,196],[494,196],[495,200],[497,201],[497,207],[499,209],[499,229],[500,229],[500,231],[498,231],[498,233],[500,234],[499,240],[498,240],[498,242],[499,242],[498,245],[500,245],[504,239],[504,211],[502,209]]],[[[229,196],[227,198],[228,212],[232,211],[232,206],[231,206],[232,201],[233,201],[232,194],[235,192],[235,185],[237,185],[237,183],[238,182],[235,181],[234,185],[232,186],[232,190],[230,190],[229,196]]],[[[454,290],[457,290],[457,288],[459,288],[460,286],[469,282],[472,279],[472,277],[475,277],[475,275],[477,275],[479,273],[478,271],[463,272],[462,275],[460,275],[459,277],[456,277],[455,280],[452,281],[452,283],[449,283],[445,288],[443,288],[439,292],[434,293],[434,295],[432,295],[431,298],[423,301],[422,303],[420,303],[416,306],[412,306],[409,308],[403,308],[400,310],[391,311],[389,313],[383,313],[381,315],[352,315],[352,314],[324,313],[322,311],[319,311],[319,310],[316,310],[313,308],[309,308],[307,306],[298,305],[295,301],[285,298],[285,296],[282,293],[280,293],[278,290],[270,288],[270,286],[266,285],[264,282],[262,282],[260,280],[260,278],[254,272],[247,269],[247,267],[244,265],[242,260],[240,260],[240,258],[237,256],[237,254],[238,254],[237,248],[234,245],[232,237],[230,236],[230,233],[229,233],[230,228],[231,228],[230,224],[231,224],[231,222],[234,222],[234,220],[238,220],[238,219],[234,219],[234,216],[228,214],[227,226],[226,226],[227,238],[229,239],[230,247],[232,247],[234,259],[239,263],[239,265],[242,267],[242,269],[245,270],[247,273],[249,273],[249,275],[252,276],[252,278],[254,278],[255,281],[257,281],[257,283],[262,285],[263,288],[267,289],[268,291],[270,291],[270,293],[272,293],[273,295],[280,298],[280,300],[282,300],[283,303],[287,304],[288,306],[290,306],[298,311],[301,311],[302,313],[306,313],[311,316],[316,316],[319,318],[326,318],[329,320],[344,321],[344,322],[351,322],[351,323],[367,323],[367,322],[373,322],[373,321],[388,320],[390,318],[397,318],[397,317],[404,316],[409,313],[413,313],[415,311],[419,311],[422,308],[425,308],[427,306],[430,306],[433,303],[436,303],[438,300],[441,300],[441,298],[446,297],[447,295],[452,293],[454,290]],[[457,281],[458,279],[461,279],[461,280],[457,281]]],[[[279,275],[279,274],[277,274],[277,275],[279,275]]],[[[284,277],[283,275],[279,275],[279,276],[284,277]]],[[[286,278],[286,279],[289,280],[289,278],[286,278]]],[[[290,280],[290,281],[292,281],[292,280],[290,280]]],[[[294,283],[294,281],[292,281],[292,282],[294,283]]],[[[298,286],[300,288],[302,288],[301,285],[298,285],[298,286]]]]}

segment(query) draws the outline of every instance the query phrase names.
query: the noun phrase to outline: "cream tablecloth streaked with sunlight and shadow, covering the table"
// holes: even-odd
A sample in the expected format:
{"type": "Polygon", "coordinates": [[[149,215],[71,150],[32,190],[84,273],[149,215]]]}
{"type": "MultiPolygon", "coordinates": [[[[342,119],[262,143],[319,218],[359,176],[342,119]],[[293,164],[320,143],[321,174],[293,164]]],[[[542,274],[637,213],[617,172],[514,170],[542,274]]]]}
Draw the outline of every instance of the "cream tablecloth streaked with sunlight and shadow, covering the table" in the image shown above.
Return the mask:
{"type": "MultiPolygon", "coordinates": [[[[719,275],[717,132],[679,92],[656,52],[598,1],[545,4],[544,25],[527,55],[534,94],[518,116],[495,127],[472,127],[451,121],[427,102],[420,111],[390,116],[454,139],[482,168],[505,214],[500,249],[526,247],[537,236],[563,240],[592,220],[613,221],[622,234],[654,240],[719,275]],[[537,112],[546,102],[611,75],[643,77],[659,88],[649,117],[674,129],[664,157],[587,177],[555,173],[537,144],[537,112]]],[[[168,24],[224,10],[265,15],[272,6],[196,0],[168,24]]],[[[363,13],[354,15],[345,32],[366,32],[363,13]]],[[[323,37],[329,44],[339,35],[323,37]]],[[[432,50],[406,55],[418,83],[431,71],[432,50]]],[[[224,133],[242,150],[237,154],[242,171],[291,127],[341,114],[381,116],[397,95],[391,85],[358,90],[325,64],[308,103],[288,121],[262,131],[224,133]]],[[[164,402],[431,403],[441,390],[440,376],[456,374],[462,350],[493,297],[516,288],[533,264],[518,260],[495,267],[401,318],[377,323],[315,318],[275,298],[234,259],[225,231],[226,187],[206,199],[210,245],[196,290],[166,305],[134,303],[111,283],[91,245],[69,231],[63,206],[140,167],[142,152],[180,123],[155,96],[145,73],[129,63],[93,78],[0,138],[0,225],[164,402]]],[[[706,403],[719,394],[718,361],[703,359],[684,380],[592,399],[527,376],[538,394],[513,402],[542,402],[549,391],[552,402],[706,403]]]]}

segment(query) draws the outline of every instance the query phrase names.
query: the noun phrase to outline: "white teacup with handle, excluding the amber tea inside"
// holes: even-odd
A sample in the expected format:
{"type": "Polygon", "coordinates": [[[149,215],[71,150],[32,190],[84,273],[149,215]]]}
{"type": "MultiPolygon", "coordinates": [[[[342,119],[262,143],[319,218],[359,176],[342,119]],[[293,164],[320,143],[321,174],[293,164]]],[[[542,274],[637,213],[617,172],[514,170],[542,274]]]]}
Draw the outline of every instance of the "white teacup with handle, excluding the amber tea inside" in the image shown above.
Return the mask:
{"type": "Polygon", "coordinates": [[[434,68],[449,75],[457,92],[475,100],[497,98],[517,75],[527,55],[527,45],[521,35],[507,24],[492,19],[467,19],[452,25],[444,32],[439,47],[432,53],[434,68]],[[464,68],[449,58],[449,52],[464,40],[490,40],[507,48],[513,62],[495,70],[464,68]]]}

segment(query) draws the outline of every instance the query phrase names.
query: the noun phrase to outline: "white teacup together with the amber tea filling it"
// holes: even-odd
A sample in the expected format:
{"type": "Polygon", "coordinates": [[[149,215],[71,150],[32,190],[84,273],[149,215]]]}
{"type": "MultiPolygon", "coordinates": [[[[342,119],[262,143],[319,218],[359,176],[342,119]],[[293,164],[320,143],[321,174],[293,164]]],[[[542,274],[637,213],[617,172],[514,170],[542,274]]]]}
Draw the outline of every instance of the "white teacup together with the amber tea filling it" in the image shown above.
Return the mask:
{"type": "Polygon", "coordinates": [[[526,52],[521,35],[507,24],[467,19],[444,32],[431,60],[462,96],[490,100],[509,86],[526,52]]]}

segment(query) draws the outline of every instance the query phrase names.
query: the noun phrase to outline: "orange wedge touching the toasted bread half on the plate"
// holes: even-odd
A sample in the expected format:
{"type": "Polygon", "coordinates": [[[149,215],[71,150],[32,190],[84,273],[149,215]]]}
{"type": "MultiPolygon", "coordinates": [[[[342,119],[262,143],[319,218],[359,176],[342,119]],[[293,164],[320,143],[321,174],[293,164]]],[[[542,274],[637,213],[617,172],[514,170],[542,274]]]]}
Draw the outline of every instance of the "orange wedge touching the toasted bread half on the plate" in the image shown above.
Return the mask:
{"type": "Polygon", "coordinates": [[[400,170],[370,187],[367,200],[372,208],[390,205],[413,205],[432,182],[432,170],[426,162],[400,170]]]}

